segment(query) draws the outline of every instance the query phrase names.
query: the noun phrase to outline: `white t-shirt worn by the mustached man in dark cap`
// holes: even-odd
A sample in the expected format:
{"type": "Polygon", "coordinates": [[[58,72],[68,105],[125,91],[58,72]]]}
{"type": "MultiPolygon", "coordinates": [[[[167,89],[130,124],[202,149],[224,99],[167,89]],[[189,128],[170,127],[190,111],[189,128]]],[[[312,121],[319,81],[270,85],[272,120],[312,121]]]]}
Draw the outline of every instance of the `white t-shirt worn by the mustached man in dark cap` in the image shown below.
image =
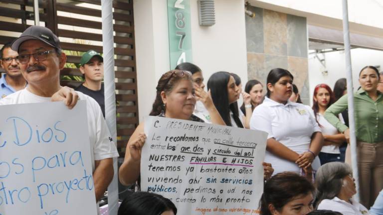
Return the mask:
{"type": "MultiPolygon", "coordinates": [[[[92,159],[92,170],[95,169],[95,160],[118,157],[118,151],[111,140],[110,132],[102,115],[98,103],[91,97],[76,91],[80,100],[86,101],[88,132],[92,159]],[[109,139],[110,138],[110,139],[109,139]]],[[[30,93],[27,89],[17,91],[0,100],[0,105],[14,105],[26,103],[50,102],[50,97],[40,97],[30,93]]]]}

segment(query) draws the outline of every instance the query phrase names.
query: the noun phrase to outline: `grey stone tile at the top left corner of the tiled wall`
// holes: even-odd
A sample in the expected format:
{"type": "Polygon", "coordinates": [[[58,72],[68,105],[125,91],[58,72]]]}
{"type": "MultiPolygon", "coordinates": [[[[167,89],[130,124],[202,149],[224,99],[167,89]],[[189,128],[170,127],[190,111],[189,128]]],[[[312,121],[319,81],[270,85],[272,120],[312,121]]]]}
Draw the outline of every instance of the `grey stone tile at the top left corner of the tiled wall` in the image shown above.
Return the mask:
{"type": "Polygon", "coordinates": [[[245,16],[247,52],[263,53],[263,9],[249,6],[254,17],[245,16]]]}

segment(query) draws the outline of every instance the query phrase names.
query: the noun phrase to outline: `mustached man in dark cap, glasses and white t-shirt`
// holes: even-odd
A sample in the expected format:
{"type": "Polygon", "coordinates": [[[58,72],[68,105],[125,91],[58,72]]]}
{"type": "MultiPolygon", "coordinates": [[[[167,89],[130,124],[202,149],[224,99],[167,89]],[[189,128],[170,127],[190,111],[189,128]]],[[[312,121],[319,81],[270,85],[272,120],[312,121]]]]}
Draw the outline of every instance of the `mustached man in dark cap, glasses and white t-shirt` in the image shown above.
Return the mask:
{"type": "Polygon", "coordinates": [[[0,105],[50,102],[56,92],[61,92],[58,96],[67,97],[66,104],[70,107],[74,106],[77,98],[86,101],[94,188],[98,201],[113,178],[112,158],[119,154],[97,102],[83,93],[60,86],[60,70],[66,63],[66,55],[61,52],[59,44],[57,36],[41,26],[27,28],[12,42],[11,48],[18,52],[21,73],[28,86],[0,100],[0,105]]]}

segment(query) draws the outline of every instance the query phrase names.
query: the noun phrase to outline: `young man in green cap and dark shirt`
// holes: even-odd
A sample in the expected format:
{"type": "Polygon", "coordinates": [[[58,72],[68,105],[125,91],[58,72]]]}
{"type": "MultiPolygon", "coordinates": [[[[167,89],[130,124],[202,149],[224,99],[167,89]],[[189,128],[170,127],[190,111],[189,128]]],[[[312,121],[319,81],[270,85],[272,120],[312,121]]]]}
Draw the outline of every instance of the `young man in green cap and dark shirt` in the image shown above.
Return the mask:
{"type": "Polygon", "coordinates": [[[104,84],[102,83],[104,78],[103,58],[100,53],[89,50],[82,55],[80,64],[80,71],[85,78],[85,82],[75,90],[96,100],[105,117],[104,84]]]}

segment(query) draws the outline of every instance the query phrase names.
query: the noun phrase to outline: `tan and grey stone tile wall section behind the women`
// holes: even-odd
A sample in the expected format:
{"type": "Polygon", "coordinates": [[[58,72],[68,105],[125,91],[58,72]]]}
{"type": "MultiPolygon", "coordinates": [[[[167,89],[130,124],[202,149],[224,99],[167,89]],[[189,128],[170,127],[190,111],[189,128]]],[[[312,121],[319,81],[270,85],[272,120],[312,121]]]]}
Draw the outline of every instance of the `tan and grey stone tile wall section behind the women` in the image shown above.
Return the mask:
{"type": "Polygon", "coordinates": [[[302,102],[310,104],[306,18],[253,6],[247,9],[255,13],[254,18],[246,16],[248,79],[265,86],[271,69],[287,69],[302,102]]]}

